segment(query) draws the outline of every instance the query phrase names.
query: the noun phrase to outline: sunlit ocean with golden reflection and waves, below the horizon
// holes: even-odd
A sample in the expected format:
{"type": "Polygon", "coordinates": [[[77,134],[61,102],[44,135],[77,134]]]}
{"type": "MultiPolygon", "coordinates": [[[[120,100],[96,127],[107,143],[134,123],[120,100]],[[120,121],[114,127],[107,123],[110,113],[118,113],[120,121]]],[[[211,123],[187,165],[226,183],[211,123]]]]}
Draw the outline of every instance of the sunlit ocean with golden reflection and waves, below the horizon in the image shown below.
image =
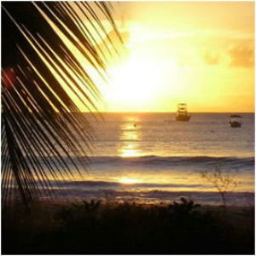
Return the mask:
{"type": "Polygon", "coordinates": [[[227,202],[254,204],[254,113],[240,113],[241,128],[230,127],[230,113],[192,113],[189,122],[175,113],[103,113],[103,121],[84,114],[95,135],[90,165],[83,178],[62,184],[65,193],[55,187],[59,197],[154,203],[186,196],[219,205],[202,173],[220,170],[230,178],[227,202]]]}

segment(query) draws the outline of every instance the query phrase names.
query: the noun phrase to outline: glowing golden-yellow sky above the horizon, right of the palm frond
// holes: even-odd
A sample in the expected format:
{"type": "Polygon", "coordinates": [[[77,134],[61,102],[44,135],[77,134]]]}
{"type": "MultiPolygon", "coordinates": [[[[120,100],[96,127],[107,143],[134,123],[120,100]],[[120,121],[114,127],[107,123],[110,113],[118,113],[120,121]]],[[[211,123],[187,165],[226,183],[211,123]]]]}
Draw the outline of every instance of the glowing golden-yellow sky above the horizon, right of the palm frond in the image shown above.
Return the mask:
{"type": "Polygon", "coordinates": [[[253,2],[114,8],[127,50],[108,66],[108,85],[96,81],[100,110],[172,112],[186,102],[191,112],[254,111],[253,2]]]}

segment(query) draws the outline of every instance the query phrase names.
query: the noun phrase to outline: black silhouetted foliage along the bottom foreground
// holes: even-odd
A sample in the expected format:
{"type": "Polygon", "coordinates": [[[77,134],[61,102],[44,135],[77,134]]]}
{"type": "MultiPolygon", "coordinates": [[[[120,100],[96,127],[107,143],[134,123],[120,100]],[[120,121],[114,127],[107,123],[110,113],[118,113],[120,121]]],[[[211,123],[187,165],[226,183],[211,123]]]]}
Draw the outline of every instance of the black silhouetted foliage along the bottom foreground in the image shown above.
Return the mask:
{"type": "MultiPolygon", "coordinates": [[[[186,201],[179,207],[187,205],[186,201]]],[[[4,221],[3,253],[253,253],[253,211],[243,215],[247,224],[241,226],[234,216],[228,222],[222,211],[192,208],[177,214],[167,206],[84,201],[55,213],[44,210],[32,218],[20,217],[16,224],[4,221]]]]}

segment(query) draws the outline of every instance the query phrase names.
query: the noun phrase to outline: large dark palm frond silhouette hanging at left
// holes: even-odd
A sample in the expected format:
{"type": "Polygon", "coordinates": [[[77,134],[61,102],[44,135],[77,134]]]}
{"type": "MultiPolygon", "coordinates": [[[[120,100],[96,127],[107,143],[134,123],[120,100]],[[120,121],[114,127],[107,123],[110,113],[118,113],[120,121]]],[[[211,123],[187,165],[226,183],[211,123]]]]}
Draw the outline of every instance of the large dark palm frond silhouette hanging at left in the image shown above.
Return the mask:
{"type": "Polygon", "coordinates": [[[106,79],[118,51],[102,22],[121,42],[112,10],[107,2],[2,2],[3,206],[18,198],[27,207],[88,163],[93,133],[77,102],[97,110],[89,70],[106,79]]]}

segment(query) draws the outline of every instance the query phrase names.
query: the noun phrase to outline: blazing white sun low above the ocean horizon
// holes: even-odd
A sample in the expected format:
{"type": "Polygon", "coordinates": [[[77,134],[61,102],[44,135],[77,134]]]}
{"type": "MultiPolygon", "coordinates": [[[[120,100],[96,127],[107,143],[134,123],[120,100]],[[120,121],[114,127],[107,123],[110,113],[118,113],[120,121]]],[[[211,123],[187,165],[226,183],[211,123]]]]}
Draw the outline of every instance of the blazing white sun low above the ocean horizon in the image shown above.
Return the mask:
{"type": "Polygon", "coordinates": [[[160,84],[160,68],[154,61],[136,54],[110,68],[109,74],[108,101],[119,102],[121,107],[148,104],[160,84]]]}

